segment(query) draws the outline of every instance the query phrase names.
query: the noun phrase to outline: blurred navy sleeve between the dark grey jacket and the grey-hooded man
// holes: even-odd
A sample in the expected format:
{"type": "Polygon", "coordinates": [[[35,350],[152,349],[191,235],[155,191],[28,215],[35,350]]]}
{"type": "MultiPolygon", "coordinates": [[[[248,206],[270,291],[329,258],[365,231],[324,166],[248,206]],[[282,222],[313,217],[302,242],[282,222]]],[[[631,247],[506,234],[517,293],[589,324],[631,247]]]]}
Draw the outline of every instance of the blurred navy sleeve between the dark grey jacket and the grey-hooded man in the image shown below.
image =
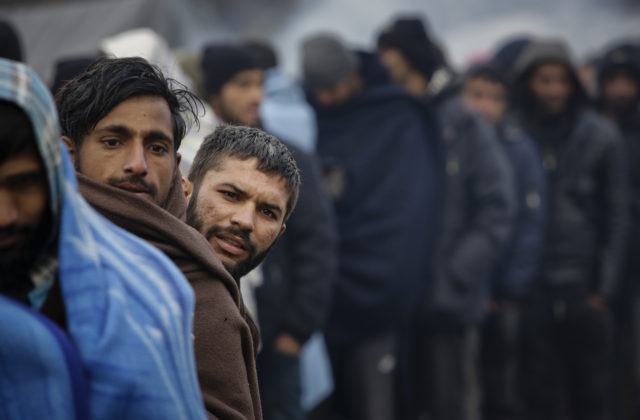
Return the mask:
{"type": "Polygon", "coordinates": [[[517,213],[498,291],[498,296],[506,298],[523,297],[536,274],[546,203],[545,174],[535,146],[524,137],[515,147],[512,167],[516,176],[517,213]]]}

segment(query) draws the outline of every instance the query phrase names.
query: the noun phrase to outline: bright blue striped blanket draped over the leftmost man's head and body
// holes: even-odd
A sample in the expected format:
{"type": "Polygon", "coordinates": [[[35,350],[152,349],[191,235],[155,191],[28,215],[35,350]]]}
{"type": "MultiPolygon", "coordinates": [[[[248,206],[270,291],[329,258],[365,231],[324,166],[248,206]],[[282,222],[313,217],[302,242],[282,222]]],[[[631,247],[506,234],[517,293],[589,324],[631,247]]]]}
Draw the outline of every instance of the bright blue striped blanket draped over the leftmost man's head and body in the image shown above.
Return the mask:
{"type": "Polygon", "coordinates": [[[28,67],[0,60],[0,98],[25,111],[44,162],[58,226],[53,281],[59,283],[67,331],[2,298],[0,417],[204,418],[191,338],[194,296],[184,276],[78,194],[73,165],[61,150],[55,105],[28,67]],[[16,325],[32,335],[5,340],[15,337],[10,332],[16,325]],[[73,369],[78,360],[81,373],[73,369]],[[78,394],[83,381],[88,389],[78,394]],[[65,392],[70,383],[72,392],[65,392]],[[86,411],[79,409],[83,402],[86,411]]]}

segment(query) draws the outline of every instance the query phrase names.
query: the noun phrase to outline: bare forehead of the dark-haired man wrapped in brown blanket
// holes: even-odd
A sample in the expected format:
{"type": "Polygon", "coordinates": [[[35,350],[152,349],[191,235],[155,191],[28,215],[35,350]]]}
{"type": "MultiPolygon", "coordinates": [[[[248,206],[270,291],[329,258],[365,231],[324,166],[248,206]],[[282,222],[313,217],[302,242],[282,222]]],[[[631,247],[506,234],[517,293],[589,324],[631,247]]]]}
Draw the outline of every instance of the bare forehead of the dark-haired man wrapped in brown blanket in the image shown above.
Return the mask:
{"type": "Polygon", "coordinates": [[[94,130],[119,125],[132,130],[160,130],[173,138],[173,120],[167,101],[160,96],[134,96],[115,106],[94,130]]]}

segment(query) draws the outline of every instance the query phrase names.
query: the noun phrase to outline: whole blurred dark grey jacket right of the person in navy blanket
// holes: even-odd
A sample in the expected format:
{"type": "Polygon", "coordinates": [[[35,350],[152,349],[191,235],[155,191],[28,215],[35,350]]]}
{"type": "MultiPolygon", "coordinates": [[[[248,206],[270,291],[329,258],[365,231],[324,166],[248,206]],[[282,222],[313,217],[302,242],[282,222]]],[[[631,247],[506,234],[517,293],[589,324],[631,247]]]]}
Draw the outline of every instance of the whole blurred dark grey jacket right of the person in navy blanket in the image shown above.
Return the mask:
{"type": "Polygon", "coordinates": [[[442,222],[424,321],[479,323],[515,215],[513,175],[488,122],[457,98],[436,106],[446,156],[442,222]]]}

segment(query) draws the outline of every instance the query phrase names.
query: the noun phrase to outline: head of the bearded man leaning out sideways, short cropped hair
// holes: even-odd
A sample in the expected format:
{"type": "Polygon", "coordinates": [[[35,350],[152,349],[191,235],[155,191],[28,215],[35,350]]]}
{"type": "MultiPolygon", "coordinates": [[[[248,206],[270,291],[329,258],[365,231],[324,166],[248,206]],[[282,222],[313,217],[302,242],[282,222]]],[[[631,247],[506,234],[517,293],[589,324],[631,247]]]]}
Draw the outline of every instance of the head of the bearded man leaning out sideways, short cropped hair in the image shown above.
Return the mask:
{"type": "Polygon", "coordinates": [[[221,126],[202,143],[184,181],[187,223],[239,278],[284,232],[299,187],[295,160],[278,139],[256,128],[221,126]]]}

